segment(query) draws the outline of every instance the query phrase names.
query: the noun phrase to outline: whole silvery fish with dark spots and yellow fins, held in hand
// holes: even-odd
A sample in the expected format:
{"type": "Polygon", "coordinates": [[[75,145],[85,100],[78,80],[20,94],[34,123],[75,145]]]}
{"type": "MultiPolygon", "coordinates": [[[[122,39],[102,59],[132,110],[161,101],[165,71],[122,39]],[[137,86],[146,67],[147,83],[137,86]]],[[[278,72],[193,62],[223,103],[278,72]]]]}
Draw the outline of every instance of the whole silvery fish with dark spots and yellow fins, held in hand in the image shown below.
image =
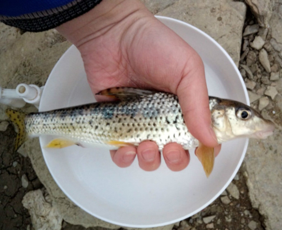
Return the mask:
{"type": "MultiPolygon", "coordinates": [[[[159,150],[176,142],[184,149],[196,148],[206,176],[212,172],[214,149],[200,143],[185,125],[178,97],[172,93],[118,87],[97,95],[117,98],[46,112],[25,114],[8,108],[6,114],[18,128],[15,151],[29,138],[54,135],[46,148],[65,148],[74,144],[138,146],[154,141],[159,150]]],[[[235,138],[266,138],[275,125],[253,108],[229,99],[209,97],[212,128],[218,143],[235,138]]]]}

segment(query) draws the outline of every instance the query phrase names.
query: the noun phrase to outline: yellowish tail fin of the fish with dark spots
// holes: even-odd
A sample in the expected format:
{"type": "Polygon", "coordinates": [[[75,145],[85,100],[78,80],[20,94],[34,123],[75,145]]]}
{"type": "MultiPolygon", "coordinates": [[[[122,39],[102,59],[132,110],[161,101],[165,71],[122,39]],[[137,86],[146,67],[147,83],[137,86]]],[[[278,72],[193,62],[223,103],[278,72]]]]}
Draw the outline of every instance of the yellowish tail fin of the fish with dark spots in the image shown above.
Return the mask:
{"type": "Polygon", "coordinates": [[[13,125],[18,128],[18,134],[14,144],[14,151],[16,152],[21,145],[27,140],[27,134],[25,132],[24,118],[25,113],[19,112],[13,109],[6,109],[6,115],[11,120],[13,125]]]}

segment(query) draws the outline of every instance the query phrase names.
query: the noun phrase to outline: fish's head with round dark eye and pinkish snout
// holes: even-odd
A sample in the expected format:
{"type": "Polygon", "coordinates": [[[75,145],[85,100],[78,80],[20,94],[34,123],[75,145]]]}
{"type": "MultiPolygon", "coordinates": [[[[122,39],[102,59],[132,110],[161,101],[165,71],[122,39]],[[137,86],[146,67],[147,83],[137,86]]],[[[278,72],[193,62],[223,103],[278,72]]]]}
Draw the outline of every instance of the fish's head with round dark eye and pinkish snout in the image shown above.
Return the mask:
{"type": "Polygon", "coordinates": [[[273,134],[275,125],[260,113],[243,103],[215,98],[212,126],[219,143],[235,138],[264,139],[273,134]]]}

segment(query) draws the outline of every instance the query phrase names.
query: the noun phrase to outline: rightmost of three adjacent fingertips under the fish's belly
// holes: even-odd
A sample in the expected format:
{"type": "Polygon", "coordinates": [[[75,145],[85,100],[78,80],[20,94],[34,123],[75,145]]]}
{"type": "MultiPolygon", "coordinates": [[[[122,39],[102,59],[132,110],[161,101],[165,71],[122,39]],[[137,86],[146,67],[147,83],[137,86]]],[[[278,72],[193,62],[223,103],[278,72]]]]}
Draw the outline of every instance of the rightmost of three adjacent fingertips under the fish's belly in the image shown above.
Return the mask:
{"type": "Polygon", "coordinates": [[[187,167],[190,161],[188,151],[185,151],[180,144],[169,143],[163,148],[163,156],[167,167],[172,171],[180,171],[187,167]]]}

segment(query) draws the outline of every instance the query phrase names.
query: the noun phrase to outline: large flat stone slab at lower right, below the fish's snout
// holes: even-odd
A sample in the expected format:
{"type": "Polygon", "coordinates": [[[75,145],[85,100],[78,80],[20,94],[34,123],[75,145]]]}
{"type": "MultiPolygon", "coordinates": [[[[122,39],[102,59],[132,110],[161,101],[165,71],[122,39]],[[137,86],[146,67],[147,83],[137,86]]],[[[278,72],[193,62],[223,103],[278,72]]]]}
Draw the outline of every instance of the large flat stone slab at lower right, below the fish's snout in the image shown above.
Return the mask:
{"type": "Polygon", "coordinates": [[[244,159],[249,197],[265,217],[267,230],[282,228],[281,144],[280,130],[266,140],[250,140],[244,159]]]}

